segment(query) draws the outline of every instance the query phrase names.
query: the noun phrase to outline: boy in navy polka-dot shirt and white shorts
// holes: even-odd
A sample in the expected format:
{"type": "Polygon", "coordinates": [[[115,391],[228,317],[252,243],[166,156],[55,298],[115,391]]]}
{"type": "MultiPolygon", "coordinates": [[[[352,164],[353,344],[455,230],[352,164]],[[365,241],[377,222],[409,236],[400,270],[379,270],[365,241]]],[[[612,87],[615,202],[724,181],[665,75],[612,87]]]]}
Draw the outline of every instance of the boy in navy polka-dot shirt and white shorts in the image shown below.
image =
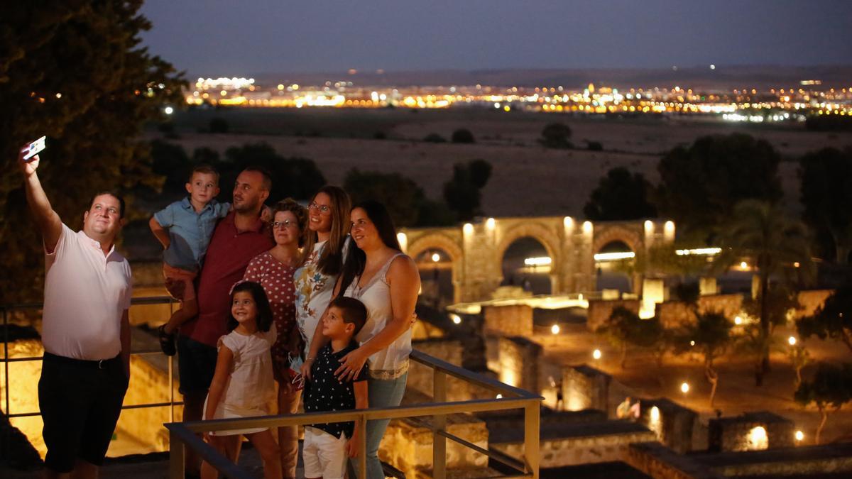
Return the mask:
{"type": "MultiPolygon", "coordinates": [[[[368,366],[365,364],[355,378],[343,382],[334,375],[340,367],[338,360],[358,349],[353,338],[366,318],[364,303],[353,297],[337,297],[329,304],[322,318],[322,333],[330,341],[320,349],[311,366],[311,380],[305,385],[306,413],[366,409],[368,366]]],[[[302,447],[305,477],[343,478],[347,457],[358,454],[361,434],[364,431],[352,421],[305,426],[302,447]]]]}

